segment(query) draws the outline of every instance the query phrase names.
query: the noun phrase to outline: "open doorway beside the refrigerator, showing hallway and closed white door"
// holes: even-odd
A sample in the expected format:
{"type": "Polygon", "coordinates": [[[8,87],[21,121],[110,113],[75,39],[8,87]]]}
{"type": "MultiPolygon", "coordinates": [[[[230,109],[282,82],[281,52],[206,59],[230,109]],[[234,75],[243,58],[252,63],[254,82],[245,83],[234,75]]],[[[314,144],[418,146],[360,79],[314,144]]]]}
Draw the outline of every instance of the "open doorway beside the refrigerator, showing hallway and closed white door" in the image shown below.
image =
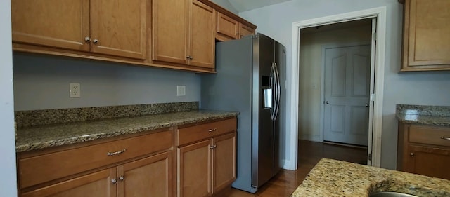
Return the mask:
{"type": "Polygon", "coordinates": [[[301,29],[299,154],[309,140],[357,145],[366,157],[371,25],[369,18],[301,29]]]}

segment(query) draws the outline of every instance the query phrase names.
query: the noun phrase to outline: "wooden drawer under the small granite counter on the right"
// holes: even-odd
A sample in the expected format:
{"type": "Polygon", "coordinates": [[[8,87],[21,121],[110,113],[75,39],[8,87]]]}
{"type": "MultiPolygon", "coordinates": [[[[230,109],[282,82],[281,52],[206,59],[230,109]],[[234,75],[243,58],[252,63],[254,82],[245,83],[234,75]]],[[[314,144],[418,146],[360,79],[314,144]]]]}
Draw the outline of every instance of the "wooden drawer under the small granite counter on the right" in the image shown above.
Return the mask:
{"type": "Polygon", "coordinates": [[[449,137],[450,128],[414,125],[409,128],[409,142],[450,147],[450,140],[446,140],[449,137]]]}

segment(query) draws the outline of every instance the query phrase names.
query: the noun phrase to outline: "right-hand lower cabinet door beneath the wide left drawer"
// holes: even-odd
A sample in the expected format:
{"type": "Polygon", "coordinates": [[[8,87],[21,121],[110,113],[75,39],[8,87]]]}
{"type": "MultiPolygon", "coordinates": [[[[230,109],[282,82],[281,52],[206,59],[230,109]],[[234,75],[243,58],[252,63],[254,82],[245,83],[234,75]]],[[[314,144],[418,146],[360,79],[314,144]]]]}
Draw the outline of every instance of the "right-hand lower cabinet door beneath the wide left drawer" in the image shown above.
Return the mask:
{"type": "Polygon", "coordinates": [[[118,196],[172,196],[172,151],[117,167],[118,196]],[[122,177],[122,178],[121,178],[122,177]]]}

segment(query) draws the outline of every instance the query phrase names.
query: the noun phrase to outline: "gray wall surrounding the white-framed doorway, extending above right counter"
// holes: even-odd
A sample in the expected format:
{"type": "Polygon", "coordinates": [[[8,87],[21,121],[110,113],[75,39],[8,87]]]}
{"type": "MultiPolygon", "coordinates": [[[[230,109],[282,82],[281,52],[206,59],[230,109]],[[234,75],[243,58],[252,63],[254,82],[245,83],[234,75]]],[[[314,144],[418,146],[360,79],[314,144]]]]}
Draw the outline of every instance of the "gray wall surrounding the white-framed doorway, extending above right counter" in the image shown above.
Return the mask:
{"type": "MultiPolygon", "coordinates": [[[[293,22],[381,6],[385,6],[387,9],[381,166],[394,169],[397,163],[395,104],[450,105],[450,72],[399,74],[402,4],[394,0],[293,0],[239,13],[239,15],[257,25],[258,32],[271,36],[286,46],[288,65],[291,65],[291,67],[288,66],[287,72],[290,73],[293,55],[293,22]]],[[[290,75],[288,75],[288,84],[290,81],[290,75]]],[[[290,86],[288,86],[288,90],[290,90],[290,86]]],[[[288,97],[290,97],[290,91],[288,97]]],[[[289,125],[290,121],[288,121],[289,125]]],[[[288,132],[297,131],[290,130],[288,132]]]]}

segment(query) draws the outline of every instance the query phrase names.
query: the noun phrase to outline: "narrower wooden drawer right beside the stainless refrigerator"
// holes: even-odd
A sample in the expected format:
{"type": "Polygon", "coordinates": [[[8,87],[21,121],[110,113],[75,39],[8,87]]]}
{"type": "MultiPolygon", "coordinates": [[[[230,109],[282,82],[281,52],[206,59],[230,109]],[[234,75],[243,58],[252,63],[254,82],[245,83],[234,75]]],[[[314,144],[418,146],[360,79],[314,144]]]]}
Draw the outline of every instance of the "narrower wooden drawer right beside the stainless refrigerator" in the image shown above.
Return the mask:
{"type": "Polygon", "coordinates": [[[187,144],[198,140],[214,137],[236,130],[236,118],[226,119],[203,125],[195,125],[188,128],[180,128],[178,134],[178,144],[187,144]]]}

